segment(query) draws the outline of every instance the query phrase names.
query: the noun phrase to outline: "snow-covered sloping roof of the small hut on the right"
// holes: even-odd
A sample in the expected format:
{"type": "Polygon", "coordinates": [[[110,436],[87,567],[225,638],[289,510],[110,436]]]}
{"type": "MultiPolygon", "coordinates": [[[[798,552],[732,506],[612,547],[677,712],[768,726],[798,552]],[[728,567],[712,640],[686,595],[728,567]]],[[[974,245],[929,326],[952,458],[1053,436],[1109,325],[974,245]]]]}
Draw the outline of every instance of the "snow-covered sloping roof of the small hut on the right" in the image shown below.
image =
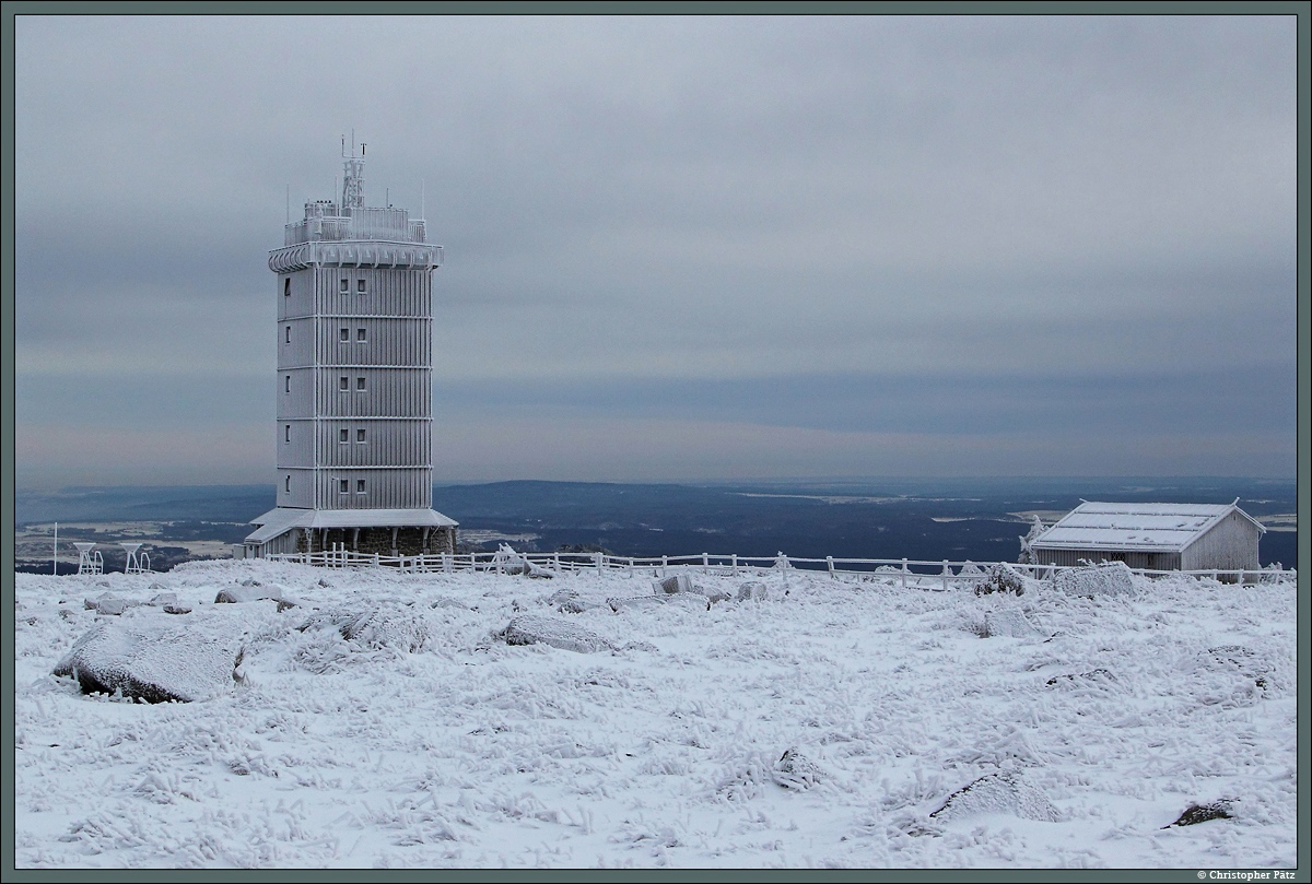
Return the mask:
{"type": "MultiPolygon", "coordinates": [[[[1178,552],[1214,525],[1237,512],[1235,504],[1105,504],[1085,501],[1030,546],[1047,550],[1152,550],[1178,552]]],[[[1265,531],[1265,529],[1262,529],[1265,531]]]]}

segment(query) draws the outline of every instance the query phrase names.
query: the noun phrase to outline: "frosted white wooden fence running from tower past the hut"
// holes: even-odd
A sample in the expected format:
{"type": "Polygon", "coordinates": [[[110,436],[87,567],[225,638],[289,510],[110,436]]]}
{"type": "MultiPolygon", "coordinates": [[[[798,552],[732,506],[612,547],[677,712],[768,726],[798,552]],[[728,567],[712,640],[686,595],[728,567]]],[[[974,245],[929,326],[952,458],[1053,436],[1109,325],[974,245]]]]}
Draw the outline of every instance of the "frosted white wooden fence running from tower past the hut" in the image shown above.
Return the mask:
{"type": "MultiPolygon", "coordinates": [[[[739,556],[711,555],[702,552],[691,556],[613,556],[604,552],[466,552],[429,553],[417,556],[384,556],[379,553],[352,552],[342,544],[321,552],[276,553],[269,559],[297,561],[327,568],[390,567],[408,573],[455,573],[455,572],[495,572],[522,573],[525,564],[556,573],[571,572],[625,572],[630,577],[665,577],[670,571],[695,571],[705,574],[739,576],[782,573],[787,581],[790,571],[820,572],[834,580],[892,580],[901,586],[949,589],[963,581],[977,581],[994,563],[989,561],[924,561],[912,559],[796,559],[782,552],[778,556],[739,556]]],[[[1022,565],[1005,563],[1015,571],[1038,578],[1051,578],[1059,571],[1072,565],[1022,565]]],[[[1187,574],[1210,577],[1235,584],[1295,581],[1298,572],[1292,568],[1253,569],[1207,569],[1207,571],[1152,571],[1131,568],[1135,574],[1165,577],[1168,574],[1187,574]]]]}

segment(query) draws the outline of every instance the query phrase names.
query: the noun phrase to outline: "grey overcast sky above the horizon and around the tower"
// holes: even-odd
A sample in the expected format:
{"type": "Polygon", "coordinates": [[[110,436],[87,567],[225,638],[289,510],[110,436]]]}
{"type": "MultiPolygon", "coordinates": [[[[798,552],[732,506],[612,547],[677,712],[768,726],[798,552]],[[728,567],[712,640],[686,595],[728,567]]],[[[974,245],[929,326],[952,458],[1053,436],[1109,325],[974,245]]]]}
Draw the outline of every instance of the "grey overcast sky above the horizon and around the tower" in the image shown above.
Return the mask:
{"type": "Polygon", "coordinates": [[[1295,472],[1294,17],[20,17],[20,488],[272,483],[417,212],[436,481],[1295,472]]]}

